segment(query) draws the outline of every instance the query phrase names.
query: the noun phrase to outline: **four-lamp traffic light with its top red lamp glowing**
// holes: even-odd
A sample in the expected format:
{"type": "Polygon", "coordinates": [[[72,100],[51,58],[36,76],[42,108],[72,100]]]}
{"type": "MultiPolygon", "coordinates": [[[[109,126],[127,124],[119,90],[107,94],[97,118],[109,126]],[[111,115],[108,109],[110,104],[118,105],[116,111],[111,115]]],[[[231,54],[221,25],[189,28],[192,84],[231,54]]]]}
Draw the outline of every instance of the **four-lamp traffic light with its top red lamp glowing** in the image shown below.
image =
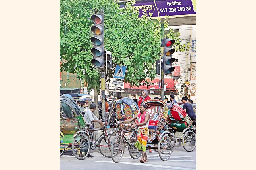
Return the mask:
{"type": "Polygon", "coordinates": [[[172,74],[174,71],[174,67],[172,67],[172,63],[175,61],[175,58],[172,58],[172,54],[175,52],[175,50],[172,48],[172,45],[174,44],[175,40],[164,38],[164,74],[172,74]]]}

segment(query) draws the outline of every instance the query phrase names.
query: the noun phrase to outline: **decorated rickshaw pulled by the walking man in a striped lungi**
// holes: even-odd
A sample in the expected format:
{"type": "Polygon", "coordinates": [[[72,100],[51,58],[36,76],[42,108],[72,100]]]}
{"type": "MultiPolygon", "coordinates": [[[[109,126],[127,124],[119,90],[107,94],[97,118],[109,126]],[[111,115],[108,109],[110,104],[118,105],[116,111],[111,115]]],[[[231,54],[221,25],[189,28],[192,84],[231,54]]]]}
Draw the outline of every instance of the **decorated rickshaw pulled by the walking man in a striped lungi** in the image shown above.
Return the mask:
{"type": "MultiPolygon", "coordinates": [[[[166,128],[166,122],[168,117],[168,108],[162,100],[151,99],[144,104],[147,105],[146,112],[150,114],[149,120],[149,137],[147,142],[147,149],[158,149],[158,154],[161,160],[169,160],[172,153],[172,135],[168,131],[164,131],[166,128]],[[154,146],[150,146],[154,145],[154,146]],[[156,146],[157,145],[157,146],[156,146]]],[[[137,112],[138,113],[138,112],[137,112]]],[[[117,111],[117,117],[121,117],[121,113],[117,111]]],[[[127,117],[129,118],[129,117],[127,117]]],[[[131,116],[130,116],[131,118],[131,116]]],[[[133,159],[138,159],[141,156],[141,152],[137,150],[134,144],[137,141],[137,131],[132,129],[132,125],[127,124],[117,124],[119,128],[119,133],[112,141],[111,145],[111,157],[115,163],[118,163],[124,153],[124,143],[126,142],[128,146],[128,151],[133,159]],[[129,139],[125,137],[125,133],[131,132],[129,139]]]]}

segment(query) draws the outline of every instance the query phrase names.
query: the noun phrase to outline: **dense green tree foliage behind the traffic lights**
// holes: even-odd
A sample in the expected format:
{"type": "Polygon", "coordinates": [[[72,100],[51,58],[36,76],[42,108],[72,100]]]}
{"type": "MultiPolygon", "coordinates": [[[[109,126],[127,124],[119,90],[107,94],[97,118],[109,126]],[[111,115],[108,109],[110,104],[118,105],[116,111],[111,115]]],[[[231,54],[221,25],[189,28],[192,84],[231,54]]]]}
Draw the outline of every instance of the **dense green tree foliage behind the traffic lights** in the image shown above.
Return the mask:
{"type": "MultiPolygon", "coordinates": [[[[104,7],[104,44],[105,49],[112,52],[113,63],[106,74],[106,82],[113,78],[116,65],[127,66],[125,82],[132,86],[140,86],[147,75],[154,79],[155,70],[149,67],[160,57],[160,24],[163,21],[153,22],[152,14],[138,18],[133,3],[135,1],[127,2],[122,9],[114,0],[60,0],[61,71],[77,73],[78,78],[88,83],[88,89],[100,89],[100,71],[93,69],[90,63],[93,58],[90,17],[104,7]]],[[[168,26],[166,22],[164,26],[168,26]]],[[[187,50],[187,46],[176,39],[176,51],[187,50]]]]}

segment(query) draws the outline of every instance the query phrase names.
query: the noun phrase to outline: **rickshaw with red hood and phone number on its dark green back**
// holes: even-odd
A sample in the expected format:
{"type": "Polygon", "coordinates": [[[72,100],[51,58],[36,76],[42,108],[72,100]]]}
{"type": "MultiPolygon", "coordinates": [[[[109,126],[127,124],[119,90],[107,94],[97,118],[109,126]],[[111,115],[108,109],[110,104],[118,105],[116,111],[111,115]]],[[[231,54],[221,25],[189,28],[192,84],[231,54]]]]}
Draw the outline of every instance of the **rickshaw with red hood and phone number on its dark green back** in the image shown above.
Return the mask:
{"type": "Polygon", "coordinates": [[[179,106],[170,108],[168,131],[175,135],[177,141],[182,142],[183,148],[191,152],[196,147],[196,122],[193,122],[187,113],[179,106]]]}

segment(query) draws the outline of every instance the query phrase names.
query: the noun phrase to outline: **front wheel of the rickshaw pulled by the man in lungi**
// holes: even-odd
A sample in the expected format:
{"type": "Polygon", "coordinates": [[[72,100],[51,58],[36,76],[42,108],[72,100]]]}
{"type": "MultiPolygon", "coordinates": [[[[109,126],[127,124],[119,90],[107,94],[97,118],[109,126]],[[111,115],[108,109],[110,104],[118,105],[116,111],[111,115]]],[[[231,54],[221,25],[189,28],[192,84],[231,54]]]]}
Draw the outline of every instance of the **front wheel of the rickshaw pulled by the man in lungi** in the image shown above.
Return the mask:
{"type": "Polygon", "coordinates": [[[119,162],[122,159],[123,152],[124,152],[124,142],[122,140],[122,137],[119,135],[116,135],[111,145],[112,160],[115,163],[119,162]]]}

